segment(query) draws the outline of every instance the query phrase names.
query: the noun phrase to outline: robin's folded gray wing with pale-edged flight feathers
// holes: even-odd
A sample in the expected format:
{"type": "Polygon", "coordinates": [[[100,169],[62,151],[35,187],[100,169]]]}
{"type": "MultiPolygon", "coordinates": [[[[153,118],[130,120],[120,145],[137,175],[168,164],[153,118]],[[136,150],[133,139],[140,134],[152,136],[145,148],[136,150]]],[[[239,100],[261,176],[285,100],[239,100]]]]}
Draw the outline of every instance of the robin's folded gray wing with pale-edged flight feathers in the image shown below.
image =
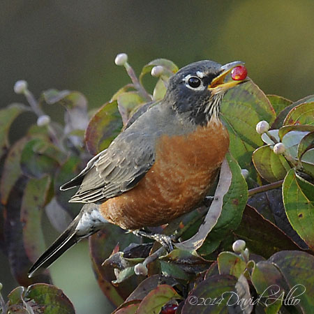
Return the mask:
{"type": "Polygon", "coordinates": [[[151,139],[143,133],[117,138],[110,147],[89,161],[87,167],[61,188],[80,188],[70,202],[97,203],[130,190],[154,163],[151,139]],[[72,182],[72,184],[71,184],[72,182]]]}

